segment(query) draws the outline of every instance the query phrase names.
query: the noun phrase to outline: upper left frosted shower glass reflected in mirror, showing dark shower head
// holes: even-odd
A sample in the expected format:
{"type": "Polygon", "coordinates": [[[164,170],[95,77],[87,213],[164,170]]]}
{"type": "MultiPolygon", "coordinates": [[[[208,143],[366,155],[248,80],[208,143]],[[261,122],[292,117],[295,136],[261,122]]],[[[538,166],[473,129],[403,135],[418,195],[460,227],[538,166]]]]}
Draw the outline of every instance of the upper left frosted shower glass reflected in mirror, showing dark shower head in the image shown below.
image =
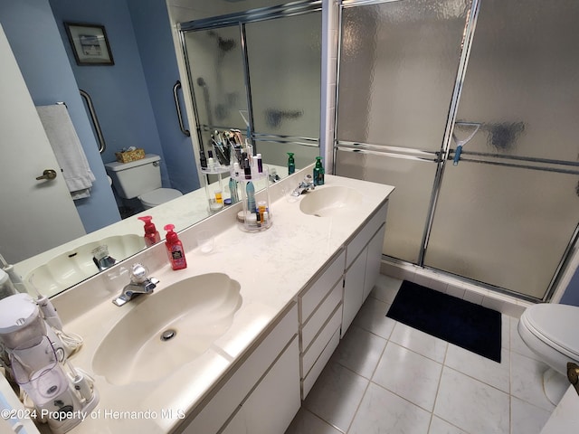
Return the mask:
{"type": "Polygon", "coordinates": [[[247,117],[248,106],[239,26],[188,32],[185,44],[200,127],[244,132],[240,110],[247,117]]]}

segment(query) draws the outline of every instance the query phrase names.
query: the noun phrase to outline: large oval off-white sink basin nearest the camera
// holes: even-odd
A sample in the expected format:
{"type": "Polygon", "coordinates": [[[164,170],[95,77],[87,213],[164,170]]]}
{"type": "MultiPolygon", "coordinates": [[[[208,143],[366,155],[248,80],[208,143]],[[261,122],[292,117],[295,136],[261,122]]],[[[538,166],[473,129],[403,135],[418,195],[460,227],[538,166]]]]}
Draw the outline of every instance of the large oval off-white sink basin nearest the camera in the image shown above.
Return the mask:
{"type": "Polygon", "coordinates": [[[209,273],[129,301],[138,306],[101,342],[92,361],[94,373],[123,385],[175,372],[229,329],[242,306],[240,289],[227,275],[209,273]]]}

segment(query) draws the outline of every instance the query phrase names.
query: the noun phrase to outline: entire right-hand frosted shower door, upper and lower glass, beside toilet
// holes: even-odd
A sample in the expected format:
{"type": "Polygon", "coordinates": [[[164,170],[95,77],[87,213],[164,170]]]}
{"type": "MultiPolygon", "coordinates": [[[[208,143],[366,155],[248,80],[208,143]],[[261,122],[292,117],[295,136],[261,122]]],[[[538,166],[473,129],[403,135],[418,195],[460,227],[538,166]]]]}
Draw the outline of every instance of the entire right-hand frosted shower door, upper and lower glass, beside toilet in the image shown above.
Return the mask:
{"type": "Polygon", "coordinates": [[[546,296],[579,222],[578,22],[572,0],[481,1],[455,137],[479,129],[445,168],[425,266],[546,296]]]}

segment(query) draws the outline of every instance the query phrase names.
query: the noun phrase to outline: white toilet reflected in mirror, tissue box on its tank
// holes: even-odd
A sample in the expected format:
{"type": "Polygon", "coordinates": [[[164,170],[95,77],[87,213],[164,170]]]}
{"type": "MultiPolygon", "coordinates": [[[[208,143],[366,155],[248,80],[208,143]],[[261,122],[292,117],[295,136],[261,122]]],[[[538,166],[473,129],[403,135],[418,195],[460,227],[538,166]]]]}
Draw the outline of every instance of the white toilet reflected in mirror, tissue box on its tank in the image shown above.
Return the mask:
{"type": "Polygon", "coordinates": [[[145,158],[129,163],[107,163],[105,168],[120,197],[137,197],[148,210],[183,195],[173,188],[161,188],[160,160],[160,156],[147,154],[145,158]]]}

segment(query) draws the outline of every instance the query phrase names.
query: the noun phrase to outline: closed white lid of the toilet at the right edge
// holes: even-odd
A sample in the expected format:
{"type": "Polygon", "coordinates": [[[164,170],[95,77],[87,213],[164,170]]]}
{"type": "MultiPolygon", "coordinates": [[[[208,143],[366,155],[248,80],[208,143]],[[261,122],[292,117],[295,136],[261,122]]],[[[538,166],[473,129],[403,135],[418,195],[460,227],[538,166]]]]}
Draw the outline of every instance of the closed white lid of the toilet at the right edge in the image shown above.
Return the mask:
{"type": "Polygon", "coordinates": [[[579,357],[579,307],[547,303],[529,307],[525,323],[539,339],[579,357]]]}

